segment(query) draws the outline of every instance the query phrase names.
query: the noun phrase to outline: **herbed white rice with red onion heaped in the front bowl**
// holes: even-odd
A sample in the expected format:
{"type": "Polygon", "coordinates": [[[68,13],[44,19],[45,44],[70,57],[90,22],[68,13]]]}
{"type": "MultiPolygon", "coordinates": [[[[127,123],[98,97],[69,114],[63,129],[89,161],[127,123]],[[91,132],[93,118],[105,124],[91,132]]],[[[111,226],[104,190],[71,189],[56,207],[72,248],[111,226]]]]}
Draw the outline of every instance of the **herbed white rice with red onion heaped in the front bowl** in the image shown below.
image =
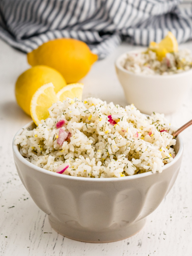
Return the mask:
{"type": "Polygon", "coordinates": [[[141,114],[88,98],[49,108],[49,118],[16,136],[20,154],[43,169],[65,175],[108,178],[162,172],[175,156],[176,140],[163,114],[141,114]]]}

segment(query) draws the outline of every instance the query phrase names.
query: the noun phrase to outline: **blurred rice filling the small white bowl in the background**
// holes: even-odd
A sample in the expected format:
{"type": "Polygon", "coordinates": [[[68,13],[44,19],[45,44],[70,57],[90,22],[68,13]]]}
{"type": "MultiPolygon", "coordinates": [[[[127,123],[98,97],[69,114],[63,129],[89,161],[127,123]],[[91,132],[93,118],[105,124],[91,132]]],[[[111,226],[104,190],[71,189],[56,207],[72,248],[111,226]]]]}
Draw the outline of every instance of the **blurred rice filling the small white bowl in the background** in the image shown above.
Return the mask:
{"type": "Polygon", "coordinates": [[[192,68],[191,52],[187,49],[167,53],[159,61],[156,52],[130,52],[124,60],[123,67],[134,74],[173,75],[192,68]]]}

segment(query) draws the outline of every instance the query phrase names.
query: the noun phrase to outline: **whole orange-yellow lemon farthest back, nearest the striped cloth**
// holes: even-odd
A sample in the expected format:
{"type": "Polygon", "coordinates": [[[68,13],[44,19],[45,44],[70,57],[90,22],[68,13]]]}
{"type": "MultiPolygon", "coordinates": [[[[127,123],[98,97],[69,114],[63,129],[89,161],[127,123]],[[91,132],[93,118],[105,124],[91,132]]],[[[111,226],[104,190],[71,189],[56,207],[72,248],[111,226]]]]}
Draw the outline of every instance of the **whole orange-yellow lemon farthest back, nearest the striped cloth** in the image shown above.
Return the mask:
{"type": "Polygon", "coordinates": [[[27,58],[31,66],[46,65],[55,68],[70,84],[83,78],[98,56],[82,41],[60,38],[42,44],[28,53],[27,58]]]}

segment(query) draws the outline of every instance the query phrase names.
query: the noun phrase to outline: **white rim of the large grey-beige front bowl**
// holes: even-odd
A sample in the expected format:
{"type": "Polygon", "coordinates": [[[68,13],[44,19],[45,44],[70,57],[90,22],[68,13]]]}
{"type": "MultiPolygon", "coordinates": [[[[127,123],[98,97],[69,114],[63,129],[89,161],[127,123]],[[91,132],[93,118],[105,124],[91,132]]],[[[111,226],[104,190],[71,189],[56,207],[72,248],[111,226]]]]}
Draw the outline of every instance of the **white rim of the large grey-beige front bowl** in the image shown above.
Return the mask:
{"type": "MultiPolygon", "coordinates": [[[[64,174],[60,174],[60,173],[56,173],[56,172],[51,172],[51,171],[48,171],[46,169],[43,169],[41,167],[38,167],[36,166],[35,164],[32,164],[30,162],[28,162],[28,160],[26,160],[19,152],[19,146],[18,145],[15,145],[14,143],[14,140],[15,140],[15,137],[17,135],[20,135],[21,132],[28,128],[29,126],[31,125],[34,125],[34,122],[31,121],[29,122],[28,124],[24,125],[22,128],[20,128],[20,130],[15,134],[14,138],[13,138],[13,141],[12,141],[12,150],[13,150],[13,154],[15,154],[15,156],[25,165],[27,165],[28,167],[32,168],[32,169],[35,169],[36,171],[39,171],[39,172],[43,172],[45,174],[48,174],[48,175],[52,175],[52,176],[56,176],[56,177],[60,177],[60,178],[63,178],[63,179],[72,179],[72,180],[82,180],[82,181],[91,181],[91,182],[111,182],[111,181],[123,181],[123,180],[134,180],[134,179],[139,179],[139,178],[142,178],[142,177],[147,177],[149,175],[155,175],[155,174],[161,174],[159,172],[155,172],[153,173],[152,171],[149,171],[149,172],[145,172],[145,173],[139,173],[139,174],[136,174],[136,175],[130,175],[130,176],[125,176],[125,177],[121,177],[121,178],[112,178],[112,177],[109,177],[109,178],[89,178],[89,177],[77,177],[77,176],[70,176],[70,175],[64,175],[64,174]]],[[[182,156],[182,153],[183,153],[183,141],[180,137],[180,135],[177,136],[177,139],[179,140],[179,151],[177,153],[177,155],[174,157],[174,160],[170,163],[167,163],[166,165],[164,165],[163,167],[163,172],[168,169],[170,166],[172,166],[173,164],[175,164],[175,162],[177,162],[180,157],[182,156]]]]}

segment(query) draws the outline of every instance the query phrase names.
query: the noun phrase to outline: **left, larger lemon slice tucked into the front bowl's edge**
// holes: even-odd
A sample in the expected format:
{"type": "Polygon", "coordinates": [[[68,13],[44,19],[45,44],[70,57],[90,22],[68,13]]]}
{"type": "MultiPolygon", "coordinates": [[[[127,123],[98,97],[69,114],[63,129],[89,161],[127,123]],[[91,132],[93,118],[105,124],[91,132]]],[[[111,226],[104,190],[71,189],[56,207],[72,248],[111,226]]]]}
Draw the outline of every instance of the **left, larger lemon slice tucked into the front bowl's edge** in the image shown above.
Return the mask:
{"type": "Polygon", "coordinates": [[[36,125],[49,116],[48,108],[57,102],[58,98],[52,83],[44,84],[32,96],[30,104],[31,117],[36,125]]]}

